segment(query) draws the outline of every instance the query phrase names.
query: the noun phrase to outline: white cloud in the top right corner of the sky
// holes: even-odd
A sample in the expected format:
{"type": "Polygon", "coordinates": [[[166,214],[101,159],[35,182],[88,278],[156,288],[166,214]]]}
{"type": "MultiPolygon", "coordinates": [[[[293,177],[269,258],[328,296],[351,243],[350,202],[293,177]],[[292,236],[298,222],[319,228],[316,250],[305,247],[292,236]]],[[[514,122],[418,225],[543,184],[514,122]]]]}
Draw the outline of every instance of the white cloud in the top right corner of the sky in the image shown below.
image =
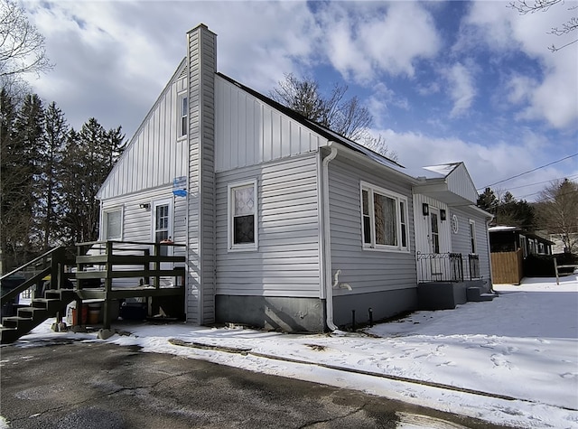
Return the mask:
{"type": "MultiPolygon", "coordinates": [[[[509,85],[508,100],[520,104],[520,119],[540,119],[555,128],[575,127],[578,120],[578,45],[558,52],[546,48],[564,45],[575,37],[556,38],[548,34],[572,16],[568,11],[575,2],[551,7],[547,12],[519,15],[501,2],[479,1],[461,24],[461,39],[454,50],[465,51],[480,46],[507,58],[520,50],[537,61],[540,72],[529,75],[517,71],[509,85]],[[528,84],[524,90],[521,84],[528,84]]],[[[578,5],[578,4],[576,4],[578,5]]],[[[499,59],[498,59],[499,60],[499,59]]]]}

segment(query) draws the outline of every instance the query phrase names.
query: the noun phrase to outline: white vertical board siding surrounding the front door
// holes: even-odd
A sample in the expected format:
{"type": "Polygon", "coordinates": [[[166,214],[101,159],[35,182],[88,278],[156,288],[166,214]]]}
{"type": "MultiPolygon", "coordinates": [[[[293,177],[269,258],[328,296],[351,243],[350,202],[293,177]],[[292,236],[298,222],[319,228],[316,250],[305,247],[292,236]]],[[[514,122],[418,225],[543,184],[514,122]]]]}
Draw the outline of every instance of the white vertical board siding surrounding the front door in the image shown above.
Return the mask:
{"type": "Polygon", "coordinates": [[[427,203],[430,207],[445,210],[446,219],[440,219],[440,253],[454,251],[452,249],[452,223],[451,214],[447,204],[434,200],[420,193],[414,194],[414,220],[415,220],[415,252],[432,253],[432,245],[429,238],[430,222],[429,216],[424,216],[422,204],[427,203]]]}

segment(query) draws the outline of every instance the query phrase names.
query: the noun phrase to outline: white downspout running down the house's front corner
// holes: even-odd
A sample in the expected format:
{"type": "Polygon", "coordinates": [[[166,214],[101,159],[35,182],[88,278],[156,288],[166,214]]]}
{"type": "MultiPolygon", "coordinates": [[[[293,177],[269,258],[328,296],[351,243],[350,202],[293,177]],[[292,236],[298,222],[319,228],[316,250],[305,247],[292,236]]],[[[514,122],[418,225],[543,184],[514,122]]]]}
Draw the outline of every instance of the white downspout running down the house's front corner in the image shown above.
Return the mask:
{"type": "Polygon", "coordinates": [[[323,283],[325,287],[325,312],[327,327],[331,331],[338,331],[333,323],[333,290],[331,284],[331,228],[329,212],[329,163],[337,156],[337,149],[331,146],[331,153],[322,161],[322,202],[323,202],[323,283]]]}

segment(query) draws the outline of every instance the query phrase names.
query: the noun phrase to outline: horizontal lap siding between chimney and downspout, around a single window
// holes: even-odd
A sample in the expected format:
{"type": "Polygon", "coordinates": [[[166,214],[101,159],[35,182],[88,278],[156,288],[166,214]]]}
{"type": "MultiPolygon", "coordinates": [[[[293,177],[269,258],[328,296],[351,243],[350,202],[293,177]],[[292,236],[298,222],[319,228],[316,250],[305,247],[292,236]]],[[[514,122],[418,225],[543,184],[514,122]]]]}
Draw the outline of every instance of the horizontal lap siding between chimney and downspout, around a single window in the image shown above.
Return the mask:
{"type": "Polygon", "coordinates": [[[217,174],[217,294],[318,297],[316,154],[217,174]],[[228,252],[228,184],[257,180],[258,249],[228,252]]]}

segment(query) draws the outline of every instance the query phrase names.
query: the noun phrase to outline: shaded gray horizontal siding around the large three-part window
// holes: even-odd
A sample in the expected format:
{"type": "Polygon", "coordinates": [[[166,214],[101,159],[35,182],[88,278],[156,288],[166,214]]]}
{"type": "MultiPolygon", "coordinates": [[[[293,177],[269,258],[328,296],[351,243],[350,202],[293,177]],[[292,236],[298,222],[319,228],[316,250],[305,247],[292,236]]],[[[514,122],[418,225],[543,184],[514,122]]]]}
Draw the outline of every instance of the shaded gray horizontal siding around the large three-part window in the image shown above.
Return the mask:
{"type": "Polygon", "coordinates": [[[329,163],[329,182],[331,276],[341,270],[340,283],[352,287],[352,291],[333,289],[333,294],[365,294],[417,287],[410,184],[384,173],[383,169],[374,170],[372,167],[352,164],[339,155],[329,163]],[[409,252],[362,248],[361,181],[406,196],[409,252]]]}

